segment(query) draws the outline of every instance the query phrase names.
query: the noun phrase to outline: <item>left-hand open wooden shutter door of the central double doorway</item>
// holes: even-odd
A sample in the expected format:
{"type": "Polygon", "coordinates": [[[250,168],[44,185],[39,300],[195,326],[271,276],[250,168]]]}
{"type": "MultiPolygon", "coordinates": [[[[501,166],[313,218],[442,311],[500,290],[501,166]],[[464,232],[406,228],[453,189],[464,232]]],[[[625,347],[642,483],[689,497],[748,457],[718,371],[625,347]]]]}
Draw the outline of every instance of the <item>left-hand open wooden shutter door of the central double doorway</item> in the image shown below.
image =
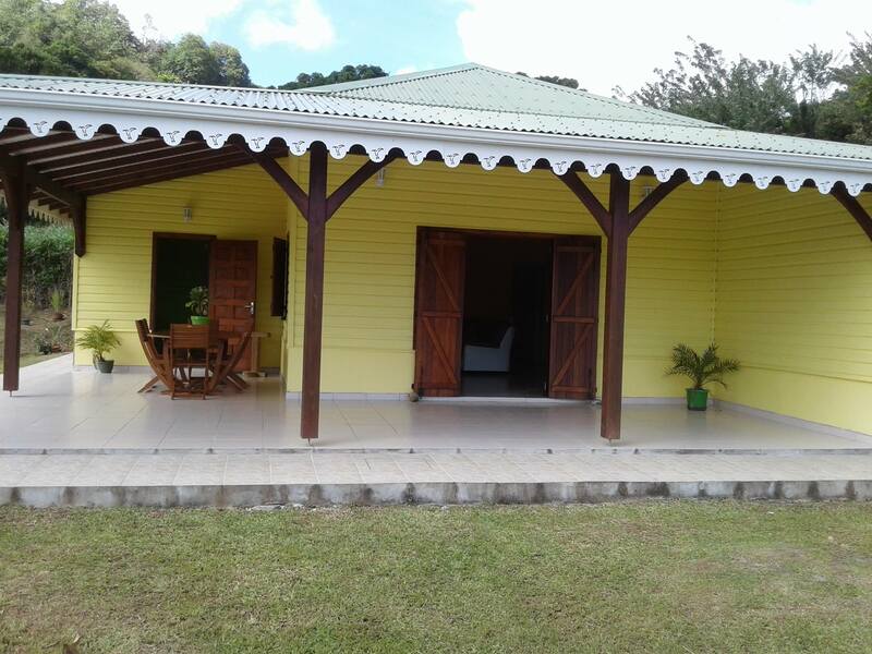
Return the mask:
{"type": "Polygon", "coordinates": [[[460,395],[465,268],[463,234],[419,232],[414,388],[422,397],[460,395]]]}

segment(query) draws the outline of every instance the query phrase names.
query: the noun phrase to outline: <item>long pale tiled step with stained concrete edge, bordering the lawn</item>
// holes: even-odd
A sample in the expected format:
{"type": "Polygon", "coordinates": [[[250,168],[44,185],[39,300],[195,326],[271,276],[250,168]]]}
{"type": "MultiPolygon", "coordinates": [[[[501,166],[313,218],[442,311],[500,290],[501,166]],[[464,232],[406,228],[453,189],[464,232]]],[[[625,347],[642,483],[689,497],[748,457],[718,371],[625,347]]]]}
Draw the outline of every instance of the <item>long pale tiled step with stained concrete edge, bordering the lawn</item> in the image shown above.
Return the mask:
{"type": "Polygon", "coordinates": [[[872,499],[872,456],[608,453],[2,455],[0,504],[872,499]]]}

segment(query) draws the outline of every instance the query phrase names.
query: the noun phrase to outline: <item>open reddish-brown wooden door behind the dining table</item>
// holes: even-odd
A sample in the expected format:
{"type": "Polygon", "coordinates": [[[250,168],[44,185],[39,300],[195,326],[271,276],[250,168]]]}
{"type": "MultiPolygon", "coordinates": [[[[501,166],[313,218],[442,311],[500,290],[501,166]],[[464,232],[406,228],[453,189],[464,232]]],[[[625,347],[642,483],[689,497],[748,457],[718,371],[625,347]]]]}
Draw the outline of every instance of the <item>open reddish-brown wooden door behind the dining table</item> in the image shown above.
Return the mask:
{"type": "MultiPolygon", "coordinates": [[[[219,331],[254,329],[257,241],[213,241],[209,255],[209,322],[219,331]]],[[[232,344],[232,341],[231,341],[232,344]]],[[[245,352],[237,370],[251,367],[245,352]]]]}

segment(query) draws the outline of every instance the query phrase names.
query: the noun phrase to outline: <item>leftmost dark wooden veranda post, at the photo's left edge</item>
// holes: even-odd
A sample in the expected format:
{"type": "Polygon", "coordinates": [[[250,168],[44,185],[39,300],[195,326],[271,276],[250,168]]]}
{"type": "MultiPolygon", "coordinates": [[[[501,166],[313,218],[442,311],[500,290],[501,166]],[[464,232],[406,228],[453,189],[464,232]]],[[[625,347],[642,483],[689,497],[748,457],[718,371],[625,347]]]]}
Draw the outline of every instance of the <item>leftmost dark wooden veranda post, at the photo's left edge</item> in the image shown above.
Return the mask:
{"type": "Polygon", "coordinates": [[[3,343],[3,390],[19,389],[21,359],[21,295],[24,267],[24,223],[32,186],[27,183],[24,162],[7,160],[0,168],[7,201],[9,237],[7,242],[7,314],[3,343]]]}

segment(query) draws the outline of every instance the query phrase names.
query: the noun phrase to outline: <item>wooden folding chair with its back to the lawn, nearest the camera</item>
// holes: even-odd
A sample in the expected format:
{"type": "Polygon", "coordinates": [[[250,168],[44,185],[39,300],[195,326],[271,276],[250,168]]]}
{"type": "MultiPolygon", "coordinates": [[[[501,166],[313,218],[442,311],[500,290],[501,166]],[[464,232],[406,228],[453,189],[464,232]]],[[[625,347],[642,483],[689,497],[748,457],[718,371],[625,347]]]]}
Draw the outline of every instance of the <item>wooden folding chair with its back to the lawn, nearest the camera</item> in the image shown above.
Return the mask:
{"type": "Polygon", "coordinates": [[[220,362],[223,359],[223,347],[216,347],[209,337],[208,325],[170,325],[168,343],[169,366],[171,371],[186,371],[186,378],[172,376],[170,397],[206,395],[215,387],[220,362]],[[193,375],[194,370],[203,370],[202,377],[193,375]]]}

